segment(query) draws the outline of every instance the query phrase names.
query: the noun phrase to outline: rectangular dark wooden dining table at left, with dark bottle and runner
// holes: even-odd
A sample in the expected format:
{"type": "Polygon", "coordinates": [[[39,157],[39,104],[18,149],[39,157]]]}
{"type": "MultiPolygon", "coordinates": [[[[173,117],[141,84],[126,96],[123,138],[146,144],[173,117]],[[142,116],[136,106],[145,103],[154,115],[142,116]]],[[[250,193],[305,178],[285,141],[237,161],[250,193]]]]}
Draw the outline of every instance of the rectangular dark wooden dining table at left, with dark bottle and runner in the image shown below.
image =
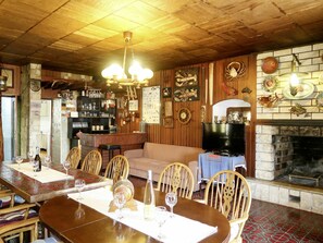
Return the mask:
{"type": "Polygon", "coordinates": [[[82,171],[63,168],[61,163],[42,167],[33,172],[33,166],[25,159],[17,165],[13,161],[0,162],[0,183],[13,191],[28,203],[44,203],[50,198],[77,192],[75,180],[85,181],[84,191],[112,184],[112,180],[82,171]]]}

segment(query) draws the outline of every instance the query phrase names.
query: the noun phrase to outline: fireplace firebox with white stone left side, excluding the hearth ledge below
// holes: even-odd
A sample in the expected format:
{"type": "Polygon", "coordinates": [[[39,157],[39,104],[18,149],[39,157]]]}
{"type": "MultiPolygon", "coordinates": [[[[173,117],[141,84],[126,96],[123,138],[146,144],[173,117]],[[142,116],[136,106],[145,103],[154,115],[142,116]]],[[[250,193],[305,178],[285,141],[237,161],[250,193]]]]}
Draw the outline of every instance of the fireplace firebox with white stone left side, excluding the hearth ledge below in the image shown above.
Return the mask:
{"type": "Polygon", "coordinates": [[[323,126],[259,126],[256,178],[323,190],[323,126]]]}

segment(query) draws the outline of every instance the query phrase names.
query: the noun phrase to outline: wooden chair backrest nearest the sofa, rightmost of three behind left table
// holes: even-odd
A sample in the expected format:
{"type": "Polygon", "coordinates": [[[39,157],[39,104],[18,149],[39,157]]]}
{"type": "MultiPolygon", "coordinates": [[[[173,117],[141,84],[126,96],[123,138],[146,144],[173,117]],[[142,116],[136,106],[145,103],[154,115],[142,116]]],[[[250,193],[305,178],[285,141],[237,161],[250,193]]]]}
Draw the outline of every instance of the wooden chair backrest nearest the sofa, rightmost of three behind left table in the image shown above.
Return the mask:
{"type": "Polygon", "coordinates": [[[108,163],[104,177],[112,179],[113,184],[121,178],[127,179],[129,173],[129,162],[123,155],[114,156],[108,163]]]}

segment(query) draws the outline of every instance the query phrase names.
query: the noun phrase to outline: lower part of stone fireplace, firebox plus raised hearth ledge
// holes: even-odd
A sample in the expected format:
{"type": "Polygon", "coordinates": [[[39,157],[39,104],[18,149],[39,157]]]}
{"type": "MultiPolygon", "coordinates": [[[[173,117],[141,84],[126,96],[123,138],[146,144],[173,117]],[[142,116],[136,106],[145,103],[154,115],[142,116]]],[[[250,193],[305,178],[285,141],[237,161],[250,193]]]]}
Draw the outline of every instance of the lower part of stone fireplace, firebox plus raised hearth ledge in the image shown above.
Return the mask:
{"type": "MultiPolygon", "coordinates": [[[[323,215],[323,178],[318,179],[319,185],[315,184],[314,179],[308,179],[314,178],[318,171],[322,174],[322,157],[319,159],[322,151],[320,151],[321,155],[314,154],[314,148],[311,147],[312,150],[309,153],[312,155],[305,153],[305,158],[311,158],[311,161],[300,160],[302,161],[300,166],[301,156],[298,153],[307,150],[299,151],[305,147],[300,145],[302,142],[299,142],[303,138],[319,142],[315,144],[320,147],[320,142],[323,141],[323,125],[261,124],[256,126],[256,179],[248,179],[252,198],[323,215]],[[306,174],[307,179],[295,177],[289,180],[291,172],[296,173],[291,168],[297,168],[298,171],[312,166],[315,170],[309,177],[306,174]]],[[[321,148],[323,149],[322,143],[321,148]]],[[[307,172],[307,169],[303,172],[307,172]]]]}

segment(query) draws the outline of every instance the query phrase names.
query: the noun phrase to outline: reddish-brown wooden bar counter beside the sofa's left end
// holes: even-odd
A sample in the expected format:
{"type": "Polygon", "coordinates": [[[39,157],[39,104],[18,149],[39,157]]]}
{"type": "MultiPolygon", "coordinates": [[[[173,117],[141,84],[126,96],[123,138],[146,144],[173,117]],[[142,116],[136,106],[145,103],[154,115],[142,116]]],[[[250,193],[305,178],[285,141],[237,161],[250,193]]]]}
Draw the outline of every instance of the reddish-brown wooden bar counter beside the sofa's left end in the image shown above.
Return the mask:
{"type": "MultiPolygon", "coordinates": [[[[110,134],[89,134],[79,135],[82,145],[82,159],[92,149],[97,149],[101,144],[121,145],[121,154],[128,149],[142,148],[147,142],[147,133],[110,133],[110,134]]],[[[108,153],[103,153],[102,168],[108,163],[108,153]]]]}

